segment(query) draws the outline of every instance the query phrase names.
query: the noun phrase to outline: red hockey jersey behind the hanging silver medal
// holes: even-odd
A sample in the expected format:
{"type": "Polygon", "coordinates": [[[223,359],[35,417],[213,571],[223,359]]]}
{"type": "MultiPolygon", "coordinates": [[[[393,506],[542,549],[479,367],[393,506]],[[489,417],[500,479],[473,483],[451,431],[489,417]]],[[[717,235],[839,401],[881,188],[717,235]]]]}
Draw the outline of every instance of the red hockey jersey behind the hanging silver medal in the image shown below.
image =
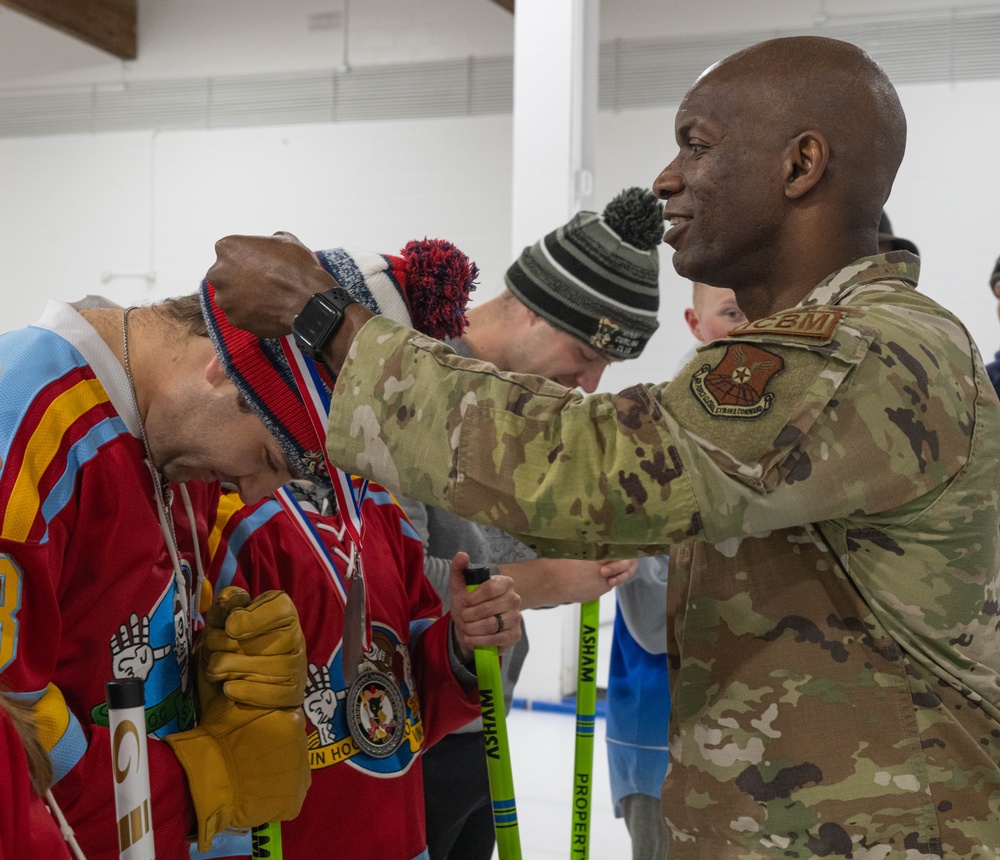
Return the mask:
{"type": "MultiPolygon", "coordinates": [[[[449,617],[438,617],[441,604],[423,574],[419,537],[389,493],[374,484],[362,517],[373,642],[367,665],[377,669],[373,677],[391,680],[398,699],[377,680],[353,688],[345,682],[343,607],[329,575],[278,503],[243,508],[235,497],[226,497],[220,506],[217,534],[224,551],[208,574],[214,588],[242,585],[251,594],[284,589],[298,609],[307,643],[312,785],[298,818],[281,825],[286,857],[421,856],[426,840],[420,752],[479,716],[474,680],[464,687],[452,671],[449,617]],[[352,738],[352,709],[369,717],[378,711],[386,723],[392,721],[392,726],[366,724],[375,754],[352,738]],[[392,731],[402,732],[402,743],[383,757],[377,745],[392,731]]],[[[343,571],[347,548],[340,517],[311,518],[343,571]]],[[[239,856],[249,852],[246,840],[239,856]]],[[[232,853],[238,854],[235,847],[232,853]]]]}

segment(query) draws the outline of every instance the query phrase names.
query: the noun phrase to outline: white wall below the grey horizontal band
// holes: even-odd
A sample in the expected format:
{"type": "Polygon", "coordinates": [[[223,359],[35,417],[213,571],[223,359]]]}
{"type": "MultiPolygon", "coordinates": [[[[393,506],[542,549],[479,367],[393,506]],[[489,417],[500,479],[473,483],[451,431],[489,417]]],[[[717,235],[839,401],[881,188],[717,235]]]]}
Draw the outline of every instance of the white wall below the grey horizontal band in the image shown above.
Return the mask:
{"type": "MultiPolygon", "coordinates": [[[[909,143],[887,209],[921,250],[921,288],[980,349],[1000,346],[986,279],[1000,254],[1000,82],[906,86],[909,143]]],[[[495,295],[509,260],[510,117],[0,139],[5,327],[47,296],[145,301],[187,292],[234,232],[285,229],[313,246],[395,251],[441,236],[495,295]],[[102,274],[153,271],[102,283],[102,274]]],[[[672,110],[602,112],[596,194],[649,185],[673,156],[672,110]]],[[[555,225],[553,225],[555,226],[555,225]]],[[[687,284],[661,258],[661,326],[602,388],[664,378],[690,346],[687,284]]]]}

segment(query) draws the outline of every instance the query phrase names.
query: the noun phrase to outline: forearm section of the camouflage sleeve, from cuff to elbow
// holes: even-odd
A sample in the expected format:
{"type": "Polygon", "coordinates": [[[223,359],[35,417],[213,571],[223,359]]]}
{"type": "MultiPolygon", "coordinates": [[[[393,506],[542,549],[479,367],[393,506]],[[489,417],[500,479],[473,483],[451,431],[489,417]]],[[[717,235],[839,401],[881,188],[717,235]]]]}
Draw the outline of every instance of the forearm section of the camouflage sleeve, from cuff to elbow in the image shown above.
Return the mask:
{"type": "Polygon", "coordinates": [[[656,554],[697,528],[662,418],[641,388],[585,399],[378,317],[338,377],[327,447],[342,468],[539,554],[656,554]]]}

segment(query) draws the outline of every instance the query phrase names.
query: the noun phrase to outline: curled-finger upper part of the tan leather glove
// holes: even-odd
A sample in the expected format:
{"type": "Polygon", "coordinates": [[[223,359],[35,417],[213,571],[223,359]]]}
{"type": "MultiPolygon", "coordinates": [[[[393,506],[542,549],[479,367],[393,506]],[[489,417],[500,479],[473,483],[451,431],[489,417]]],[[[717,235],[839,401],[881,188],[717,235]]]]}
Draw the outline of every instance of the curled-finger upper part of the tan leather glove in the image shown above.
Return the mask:
{"type": "Polygon", "coordinates": [[[205,617],[196,650],[202,680],[221,683],[234,702],[297,708],[305,698],[306,642],[283,591],[250,600],[242,588],[224,588],[205,617]]]}

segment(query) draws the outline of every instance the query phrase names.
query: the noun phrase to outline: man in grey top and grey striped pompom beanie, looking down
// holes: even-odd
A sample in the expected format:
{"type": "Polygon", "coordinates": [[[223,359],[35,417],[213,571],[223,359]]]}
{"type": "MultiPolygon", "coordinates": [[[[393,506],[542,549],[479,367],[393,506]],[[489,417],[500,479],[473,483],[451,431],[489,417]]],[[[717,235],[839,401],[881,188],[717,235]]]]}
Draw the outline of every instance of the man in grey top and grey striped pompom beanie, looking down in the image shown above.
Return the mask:
{"type": "MultiPolygon", "coordinates": [[[[464,336],[449,345],[500,370],[594,391],[608,364],[638,356],[656,330],[662,233],[660,203],[642,188],[624,190],[601,214],[578,213],[524,249],[507,270],[507,289],[473,307],[464,336]]],[[[536,558],[498,529],[399,501],[424,542],[425,572],[446,610],[459,551],[510,576],[522,609],[594,600],[635,570],[634,560],[536,558]]],[[[527,652],[522,635],[502,662],[508,711],[527,652]]],[[[482,723],[439,741],[423,768],[431,860],[489,860],[495,837],[482,723]]]]}

